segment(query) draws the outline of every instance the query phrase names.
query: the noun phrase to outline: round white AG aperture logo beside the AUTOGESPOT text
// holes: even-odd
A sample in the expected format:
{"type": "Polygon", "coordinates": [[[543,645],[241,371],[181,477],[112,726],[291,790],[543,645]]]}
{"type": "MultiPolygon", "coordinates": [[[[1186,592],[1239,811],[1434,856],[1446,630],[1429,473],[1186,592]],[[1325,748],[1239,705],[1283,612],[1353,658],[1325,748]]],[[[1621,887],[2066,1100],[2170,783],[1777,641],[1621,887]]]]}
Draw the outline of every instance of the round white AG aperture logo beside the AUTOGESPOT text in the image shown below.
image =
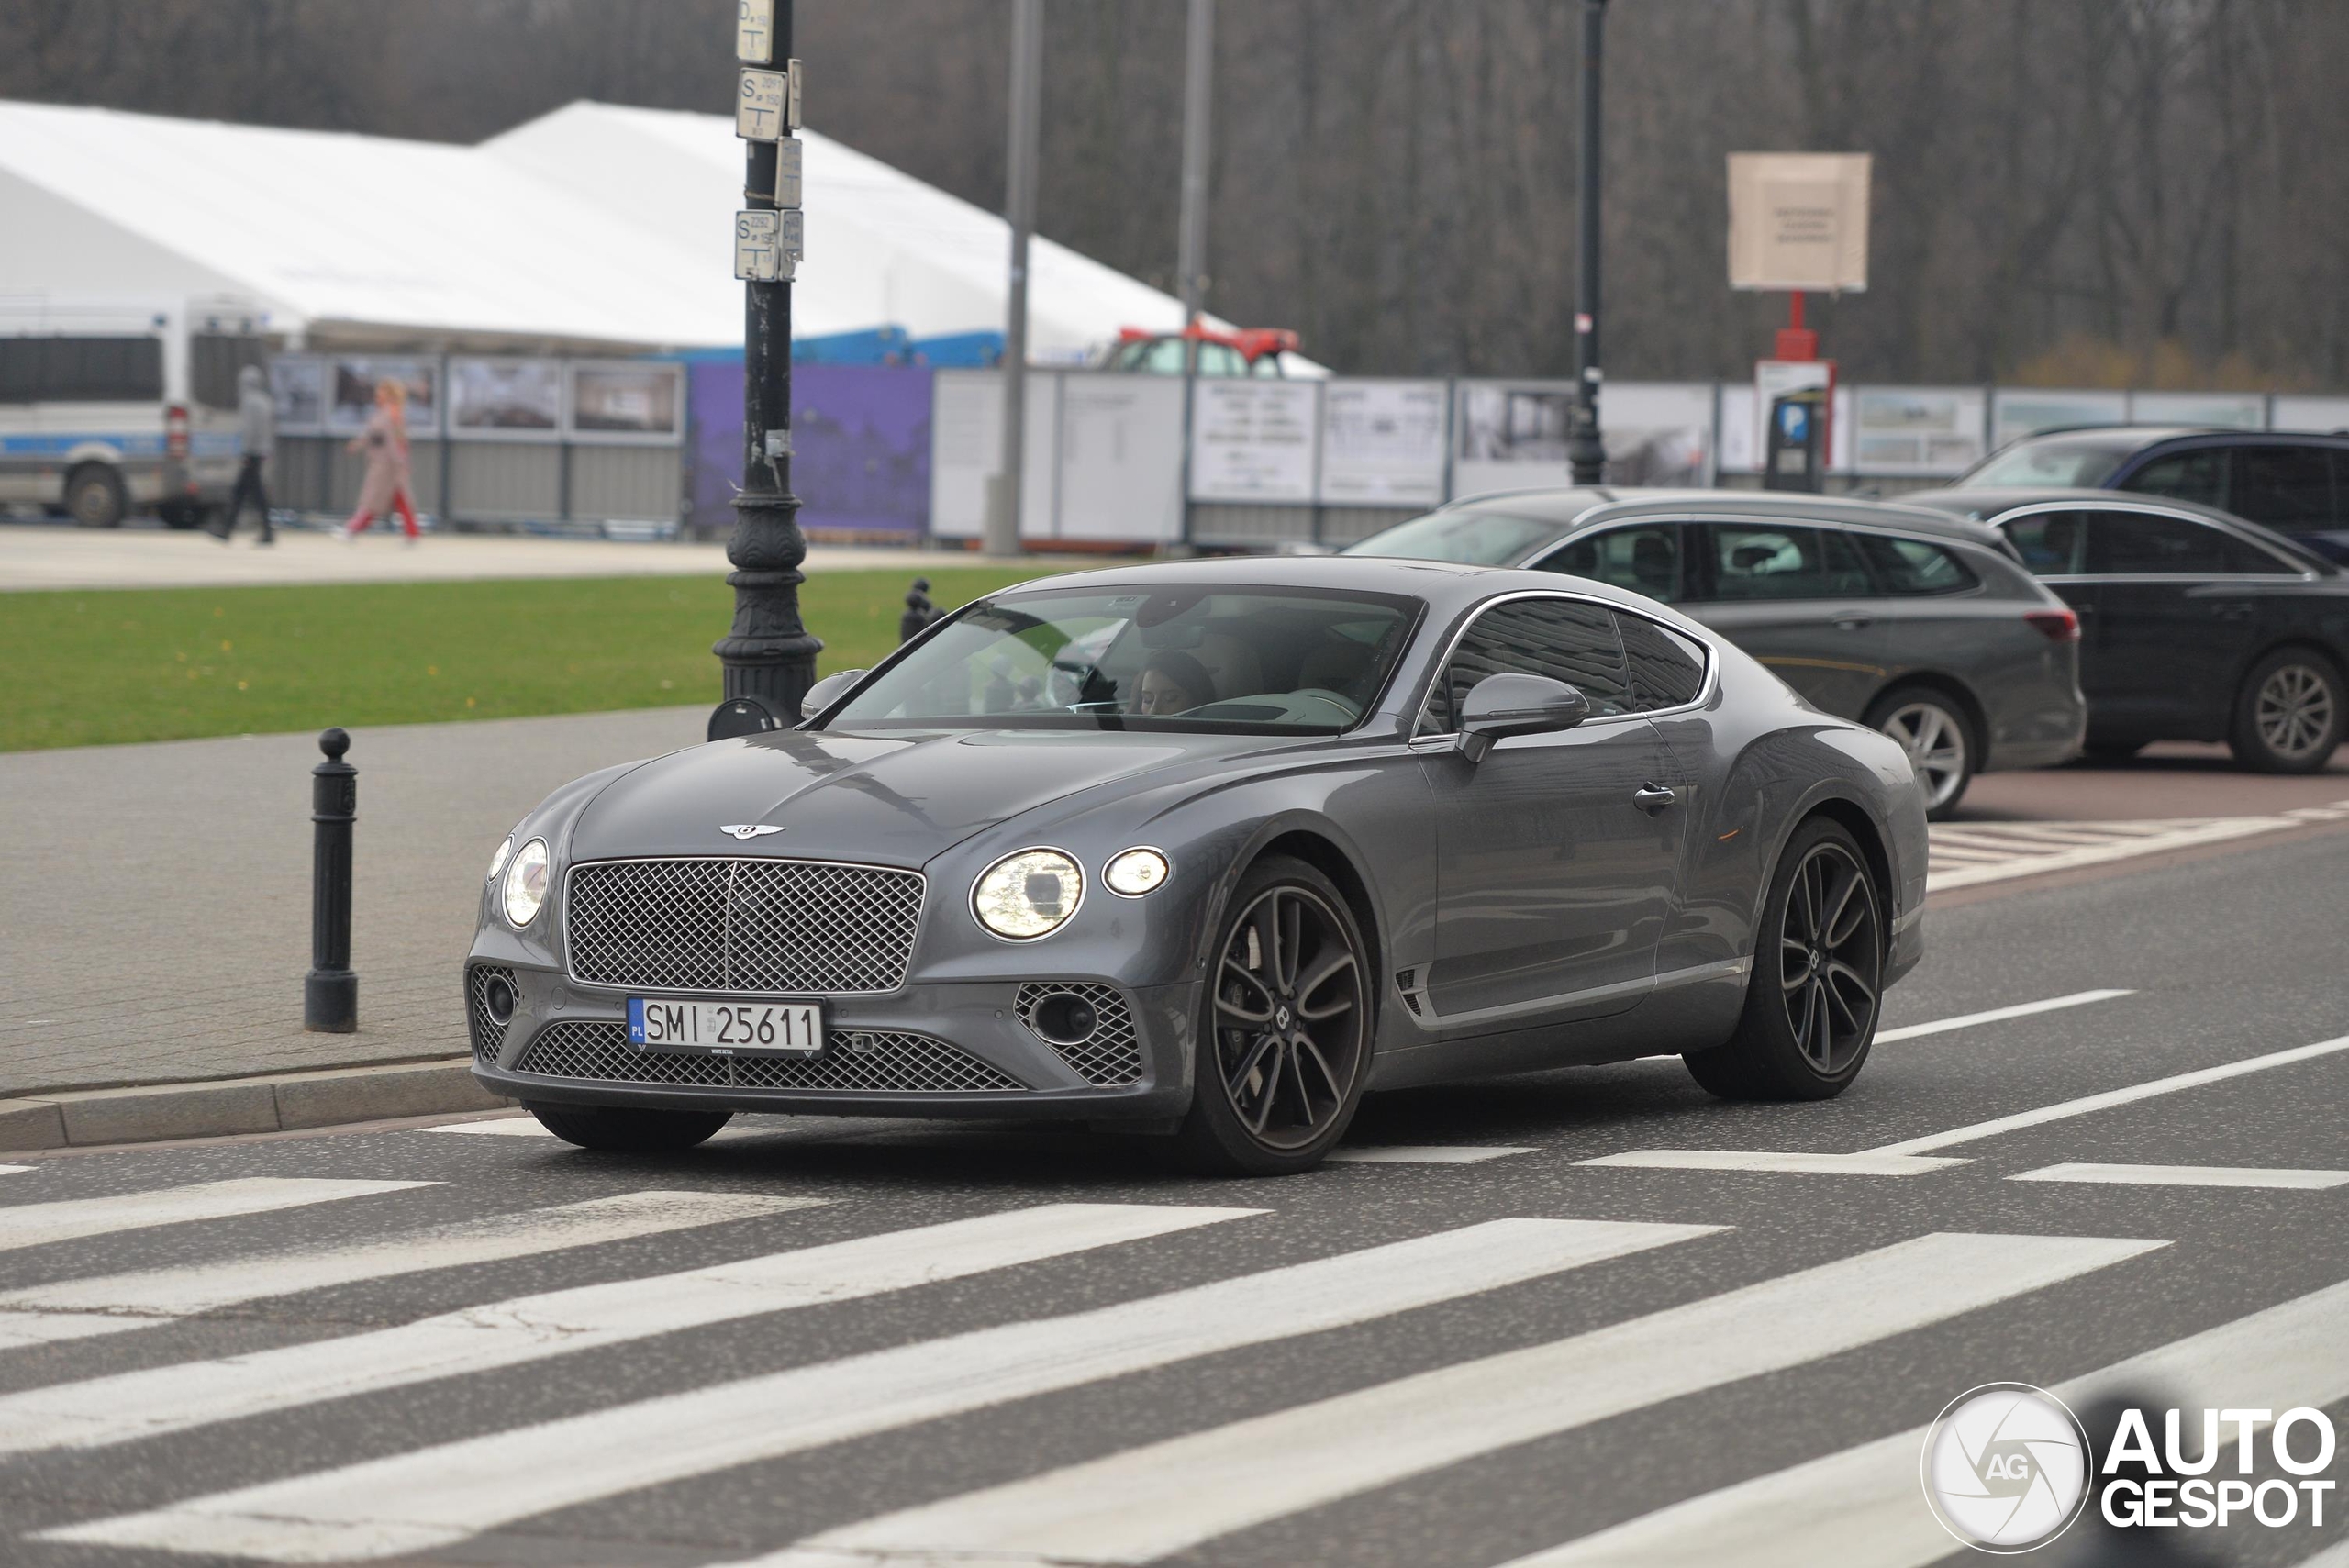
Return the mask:
{"type": "Polygon", "coordinates": [[[1976,1552],[2032,1552],[2088,1505],[2088,1432],[2027,1383],[1985,1383],[1950,1401],[1924,1437],[1924,1498],[1976,1552]]]}

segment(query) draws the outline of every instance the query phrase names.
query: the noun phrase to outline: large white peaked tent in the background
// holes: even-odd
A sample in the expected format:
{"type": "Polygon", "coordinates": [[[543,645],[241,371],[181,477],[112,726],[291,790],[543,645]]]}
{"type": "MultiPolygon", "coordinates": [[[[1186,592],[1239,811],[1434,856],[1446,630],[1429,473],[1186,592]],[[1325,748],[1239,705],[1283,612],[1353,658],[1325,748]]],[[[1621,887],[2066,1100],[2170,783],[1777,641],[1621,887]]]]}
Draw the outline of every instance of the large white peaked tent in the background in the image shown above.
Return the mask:
{"type": "MultiPolygon", "coordinates": [[[[716,115],[573,103],[479,148],[0,101],[0,293],[235,293],[272,331],[451,347],[742,340],[716,115]]],[[[794,331],[1003,326],[1005,223],[806,134],[794,331]]],[[[1071,359],[1179,303],[1031,254],[1031,352],[1071,359]]]]}

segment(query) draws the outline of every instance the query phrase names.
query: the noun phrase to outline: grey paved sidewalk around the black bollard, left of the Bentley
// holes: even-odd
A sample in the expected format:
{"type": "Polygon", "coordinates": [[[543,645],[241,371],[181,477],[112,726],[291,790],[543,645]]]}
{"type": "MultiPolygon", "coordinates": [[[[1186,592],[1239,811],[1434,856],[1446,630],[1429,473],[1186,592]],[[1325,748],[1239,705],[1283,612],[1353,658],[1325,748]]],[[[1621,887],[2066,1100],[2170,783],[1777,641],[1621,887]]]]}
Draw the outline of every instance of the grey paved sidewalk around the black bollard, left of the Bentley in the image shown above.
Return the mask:
{"type": "Polygon", "coordinates": [[[707,716],[357,730],[357,1035],[301,1028],[312,735],[0,756],[0,1099],[465,1052],[458,965],[498,838],[707,716]]]}

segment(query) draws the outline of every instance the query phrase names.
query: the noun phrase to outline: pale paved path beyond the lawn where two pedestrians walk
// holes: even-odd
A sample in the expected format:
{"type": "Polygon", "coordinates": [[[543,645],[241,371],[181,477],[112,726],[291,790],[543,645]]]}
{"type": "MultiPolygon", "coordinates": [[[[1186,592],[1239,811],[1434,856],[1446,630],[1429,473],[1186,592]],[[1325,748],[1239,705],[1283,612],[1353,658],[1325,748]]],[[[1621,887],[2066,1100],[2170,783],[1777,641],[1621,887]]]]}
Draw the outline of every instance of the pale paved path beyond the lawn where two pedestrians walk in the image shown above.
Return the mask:
{"type": "MultiPolygon", "coordinates": [[[[247,528],[251,523],[247,521],[247,528]]],[[[808,570],[984,566],[961,549],[808,549],[808,570]]],[[[1036,556],[1041,570],[1052,559],[1036,556]]],[[[1069,566],[1069,563],[1062,563],[1069,566]]],[[[108,587],[242,587],[265,582],[472,582],[482,577],[709,577],[728,570],[723,545],[625,545],[484,533],[428,535],[409,549],[381,528],[355,545],[280,530],[258,549],[200,530],[0,523],[0,592],[108,587]]]]}

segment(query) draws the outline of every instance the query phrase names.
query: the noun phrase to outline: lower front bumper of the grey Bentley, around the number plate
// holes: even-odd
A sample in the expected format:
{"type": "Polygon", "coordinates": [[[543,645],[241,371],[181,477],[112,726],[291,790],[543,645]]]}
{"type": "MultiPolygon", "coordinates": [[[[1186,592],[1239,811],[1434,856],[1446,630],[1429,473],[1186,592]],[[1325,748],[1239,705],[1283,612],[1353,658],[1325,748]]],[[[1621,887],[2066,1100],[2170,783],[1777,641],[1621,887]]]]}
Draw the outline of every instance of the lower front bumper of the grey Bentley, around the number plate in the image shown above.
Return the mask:
{"type": "Polygon", "coordinates": [[[474,958],[474,1077],[521,1101],[785,1115],[1165,1120],[1191,1103],[1196,984],[1036,974],[817,998],[824,1052],[813,1059],[644,1052],[627,1045],[630,995],[660,993],[474,958]],[[503,1026],[484,1002],[491,974],[514,991],[503,1026]],[[1099,1028],[1083,1042],[1055,1045],[1027,1021],[1022,1002],[1059,988],[1097,1002],[1099,1028]]]}

